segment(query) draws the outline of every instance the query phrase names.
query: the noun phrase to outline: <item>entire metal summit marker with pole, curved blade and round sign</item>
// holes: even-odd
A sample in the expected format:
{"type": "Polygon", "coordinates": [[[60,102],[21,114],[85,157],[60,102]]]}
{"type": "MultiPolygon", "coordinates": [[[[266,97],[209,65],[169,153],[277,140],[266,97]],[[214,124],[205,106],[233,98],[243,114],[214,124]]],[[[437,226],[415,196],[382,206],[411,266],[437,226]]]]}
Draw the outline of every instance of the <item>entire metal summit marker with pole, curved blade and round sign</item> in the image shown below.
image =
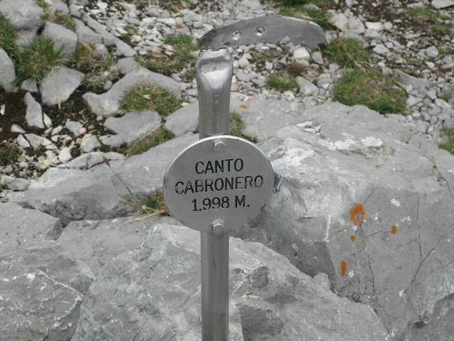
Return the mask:
{"type": "Polygon", "coordinates": [[[228,23],[200,38],[196,60],[200,141],[185,148],[164,175],[167,208],[201,232],[202,341],[228,340],[228,237],[260,214],[274,187],[274,173],[260,149],[228,136],[233,63],[228,47],[277,43],[326,47],[310,21],[260,15],[228,23]]]}

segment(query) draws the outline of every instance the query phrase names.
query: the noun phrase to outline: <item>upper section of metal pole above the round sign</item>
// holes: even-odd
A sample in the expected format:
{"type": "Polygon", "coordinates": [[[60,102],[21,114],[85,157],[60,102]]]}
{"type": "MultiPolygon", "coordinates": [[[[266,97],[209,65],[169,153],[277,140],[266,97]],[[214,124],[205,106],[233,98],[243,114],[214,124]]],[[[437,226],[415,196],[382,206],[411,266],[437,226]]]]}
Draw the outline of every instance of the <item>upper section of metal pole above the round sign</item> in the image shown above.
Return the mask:
{"type": "Polygon", "coordinates": [[[225,48],[201,51],[195,70],[199,90],[200,138],[228,135],[233,76],[230,53],[225,48]]]}

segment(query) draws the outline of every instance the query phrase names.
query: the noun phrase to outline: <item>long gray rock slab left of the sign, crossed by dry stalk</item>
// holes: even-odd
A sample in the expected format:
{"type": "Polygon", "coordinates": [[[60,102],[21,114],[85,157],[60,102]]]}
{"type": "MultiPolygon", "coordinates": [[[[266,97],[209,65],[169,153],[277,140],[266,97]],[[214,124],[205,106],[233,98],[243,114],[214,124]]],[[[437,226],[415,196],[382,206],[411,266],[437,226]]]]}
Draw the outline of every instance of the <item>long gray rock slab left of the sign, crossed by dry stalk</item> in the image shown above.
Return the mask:
{"type": "MultiPolygon", "coordinates": [[[[162,187],[165,170],[183,148],[198,140],[198,135],[182,136],[149,151],[118,160],[112,153],[111,167],[140,200],[155,195],[162,187]],[[118,161],[116,161],[118,160],[118,161]]],[[[102,153],[81,156],[64,168],[50,168],[28,190],[8,193],[10,202],[26,205],[60,217],[65,226],[72,220],[102,220],[123,217],[135,212],[135,207],[121,200],[133,201],[123,183],[103,162],[102,153]]],[[[109,156],[109,153],[106,153],[109,156]]]]}

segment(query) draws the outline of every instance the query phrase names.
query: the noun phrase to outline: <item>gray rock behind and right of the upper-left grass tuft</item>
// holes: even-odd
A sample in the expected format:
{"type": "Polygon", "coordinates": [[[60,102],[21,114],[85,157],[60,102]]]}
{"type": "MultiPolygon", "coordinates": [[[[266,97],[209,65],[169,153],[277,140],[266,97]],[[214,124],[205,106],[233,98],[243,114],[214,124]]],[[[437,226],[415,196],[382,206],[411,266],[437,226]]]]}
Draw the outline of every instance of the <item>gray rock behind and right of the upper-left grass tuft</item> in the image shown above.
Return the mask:
{"type": "Polygon", "coordinates": [[[61,50],[67,59],[76,52],[77,34],[65,26],[46,21],[41,35],[54,40],[54,50],[61,50]]]}

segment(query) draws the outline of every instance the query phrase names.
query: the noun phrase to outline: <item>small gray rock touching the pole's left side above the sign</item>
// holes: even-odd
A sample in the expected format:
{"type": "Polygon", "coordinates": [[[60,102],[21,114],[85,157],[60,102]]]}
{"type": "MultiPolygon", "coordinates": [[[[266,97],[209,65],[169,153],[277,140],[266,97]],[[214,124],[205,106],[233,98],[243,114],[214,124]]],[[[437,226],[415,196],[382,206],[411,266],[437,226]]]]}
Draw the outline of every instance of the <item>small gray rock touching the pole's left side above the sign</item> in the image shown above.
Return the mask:
{"type": "Polygon", "coordinates": [[[165,119],[165,129],[175,136],[183,136],[193,133],[199,126],[199,102],[193,102],[176,112],[173,112],[165,119]]]}

